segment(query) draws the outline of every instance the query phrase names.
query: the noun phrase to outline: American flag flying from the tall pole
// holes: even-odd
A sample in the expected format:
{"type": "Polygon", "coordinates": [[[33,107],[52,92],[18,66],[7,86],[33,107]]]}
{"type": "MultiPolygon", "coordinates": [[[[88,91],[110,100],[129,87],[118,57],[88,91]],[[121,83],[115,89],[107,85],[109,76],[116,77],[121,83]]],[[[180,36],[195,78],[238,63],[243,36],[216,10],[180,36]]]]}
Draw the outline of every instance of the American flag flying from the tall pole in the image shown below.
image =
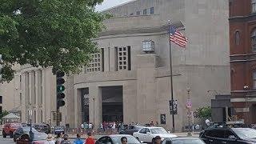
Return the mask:
{"type": "Polygon", "coordinates": [[[178,46],[186,47],[188,39],[175,27],[170,27],[170,41],[174,42],[178,46]]]}

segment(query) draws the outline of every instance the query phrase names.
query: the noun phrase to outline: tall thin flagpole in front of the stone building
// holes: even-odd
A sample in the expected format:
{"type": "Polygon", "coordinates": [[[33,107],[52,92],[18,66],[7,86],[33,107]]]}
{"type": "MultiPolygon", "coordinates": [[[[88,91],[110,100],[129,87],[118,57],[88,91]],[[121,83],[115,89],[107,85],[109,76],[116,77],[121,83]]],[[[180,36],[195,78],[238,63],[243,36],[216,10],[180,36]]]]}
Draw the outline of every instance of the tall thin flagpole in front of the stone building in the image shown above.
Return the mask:
{"type": "Polygon", "coordinates": [[[174,122],[174,89],[173,89],[173,65],[171,57],[171,45],[170,45],[170,20],[168,20],[168,39],[169,39],[169,51],[170,51],[170,98],[171,98],[171,109],[172,109],[172,122],[173,122],[173,133],[175,132],[175,122],[174,122]]]}

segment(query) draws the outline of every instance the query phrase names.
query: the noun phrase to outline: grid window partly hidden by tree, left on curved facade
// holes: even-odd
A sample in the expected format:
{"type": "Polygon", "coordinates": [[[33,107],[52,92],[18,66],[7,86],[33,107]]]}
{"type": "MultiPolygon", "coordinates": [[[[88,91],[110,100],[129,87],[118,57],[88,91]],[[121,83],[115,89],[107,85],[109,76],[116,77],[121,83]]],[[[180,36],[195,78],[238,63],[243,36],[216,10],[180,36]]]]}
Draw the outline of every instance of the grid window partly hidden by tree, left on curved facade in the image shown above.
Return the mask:
{"type": "Polygon", "coordinates": [[[86,72],[102,71],[102,54],[92,54],[92,59],[86,67],[86,72]]]}

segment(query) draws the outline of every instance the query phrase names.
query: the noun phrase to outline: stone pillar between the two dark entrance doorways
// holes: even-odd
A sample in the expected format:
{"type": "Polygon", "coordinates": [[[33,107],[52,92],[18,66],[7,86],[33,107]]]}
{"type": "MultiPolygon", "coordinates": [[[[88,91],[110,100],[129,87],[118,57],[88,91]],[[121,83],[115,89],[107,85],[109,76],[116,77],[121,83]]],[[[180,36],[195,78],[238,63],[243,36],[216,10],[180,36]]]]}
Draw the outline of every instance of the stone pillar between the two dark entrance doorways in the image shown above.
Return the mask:
{"type": "Polygon", "coordinates": [[[102,123],[102,88],[98,86],[89,87],[89,120],[95,129],[102,123]]]}

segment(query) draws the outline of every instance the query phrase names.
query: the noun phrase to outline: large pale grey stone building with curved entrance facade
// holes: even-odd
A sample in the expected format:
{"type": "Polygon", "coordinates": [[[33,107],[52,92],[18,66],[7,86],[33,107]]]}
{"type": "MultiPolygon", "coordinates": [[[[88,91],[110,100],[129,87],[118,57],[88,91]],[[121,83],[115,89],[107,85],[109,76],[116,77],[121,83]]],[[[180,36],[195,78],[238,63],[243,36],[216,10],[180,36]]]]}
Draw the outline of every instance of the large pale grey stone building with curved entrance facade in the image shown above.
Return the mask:
{"type": "MultiPolygon", "coordinates": [[[[120,120],[125,123],[160,123],[171,130],[170,57],[167,21],[189,38],[186,49],[171,44],[174,99],[178,103],[176,130],[187,125],[190,90],[193,110],[210,106],[217,90],[230,94],[227,0],[137,0],[104,12],[98,39],[99,53],[81,74],[67,77],[62,124],[120,120]],[[154,49],[153,49],[154,48],[154,49]]],[[[55,110],[55,79],[49,69],[22,66],[22,121],[34,110],[34,122],[51,122],[55,110]],[[36,98],[34,98],[36,96],[36,98]]],[[[14,79],[15,81],[15,79],[14,79]]]]}

